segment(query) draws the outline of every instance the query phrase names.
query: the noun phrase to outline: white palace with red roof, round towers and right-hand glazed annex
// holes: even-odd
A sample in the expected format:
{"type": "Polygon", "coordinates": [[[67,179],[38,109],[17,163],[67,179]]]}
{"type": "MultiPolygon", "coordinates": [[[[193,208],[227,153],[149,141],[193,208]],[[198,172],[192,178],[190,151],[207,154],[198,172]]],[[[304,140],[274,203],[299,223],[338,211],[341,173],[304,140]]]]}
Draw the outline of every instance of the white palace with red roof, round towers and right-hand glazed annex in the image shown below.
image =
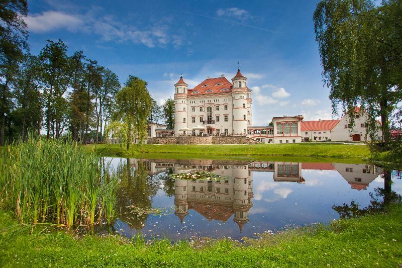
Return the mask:
{"type": "Polygon", "coordinates": [[[182,76],[174,84],[174,135],[248,136],[266,143],[302,141],[303,116],[274,117],[272,126],[252,126],[252,97],[240,68],[230,82],[208,77],[188,88],[182,76]]]}

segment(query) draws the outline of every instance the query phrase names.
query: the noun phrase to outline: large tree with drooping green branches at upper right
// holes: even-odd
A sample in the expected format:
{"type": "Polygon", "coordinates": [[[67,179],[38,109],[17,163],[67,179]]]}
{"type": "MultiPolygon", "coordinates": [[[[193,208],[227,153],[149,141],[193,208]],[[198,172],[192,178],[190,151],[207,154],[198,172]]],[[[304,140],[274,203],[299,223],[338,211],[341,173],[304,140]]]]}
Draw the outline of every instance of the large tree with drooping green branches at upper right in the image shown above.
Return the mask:
{"type": "Polygon", "coordinates": [[[341,107],[353,127],[354,107],[361,105],[371,138],[380,117],[388,143],[390,117],[402,99],[402,2],[322,0],[314,23],[334,114],[341,107]]]}

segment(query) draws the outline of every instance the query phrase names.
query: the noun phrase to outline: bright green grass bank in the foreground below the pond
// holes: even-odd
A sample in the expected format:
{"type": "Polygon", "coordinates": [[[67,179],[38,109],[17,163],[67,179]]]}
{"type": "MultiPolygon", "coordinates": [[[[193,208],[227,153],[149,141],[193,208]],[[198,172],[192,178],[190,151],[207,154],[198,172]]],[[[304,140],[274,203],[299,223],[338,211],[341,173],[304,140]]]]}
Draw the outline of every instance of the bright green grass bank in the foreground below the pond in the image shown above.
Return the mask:
{"type": "Polygon", "coordinates": [[[46,227],[21,227],[0,211],[0,266],[381,266],[402,263],[402,204],[388,214],[334,221],[330,226],[293,229],[239,245],[230,240],[201,247],[167,240],[151,245],[120,236],[76,238],[46,227]]]}

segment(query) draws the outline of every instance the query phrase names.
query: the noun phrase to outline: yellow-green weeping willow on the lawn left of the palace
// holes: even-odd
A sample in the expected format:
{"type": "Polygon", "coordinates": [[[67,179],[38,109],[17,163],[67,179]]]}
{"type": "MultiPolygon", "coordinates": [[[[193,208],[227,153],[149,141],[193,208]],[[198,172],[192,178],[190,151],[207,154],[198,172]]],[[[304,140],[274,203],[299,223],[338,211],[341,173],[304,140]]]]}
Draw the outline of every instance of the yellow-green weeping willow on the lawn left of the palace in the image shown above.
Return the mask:
{"type": "Polygon", "coordinates": [[[147,119],[152,107],[147,82],[130,75],[125,86],[116,94],[116,103],[117,118],[127,124],[127,150],[130,148],[132,133],[138,136],[138,144],[142,144],[147,135],[147,119]]]}

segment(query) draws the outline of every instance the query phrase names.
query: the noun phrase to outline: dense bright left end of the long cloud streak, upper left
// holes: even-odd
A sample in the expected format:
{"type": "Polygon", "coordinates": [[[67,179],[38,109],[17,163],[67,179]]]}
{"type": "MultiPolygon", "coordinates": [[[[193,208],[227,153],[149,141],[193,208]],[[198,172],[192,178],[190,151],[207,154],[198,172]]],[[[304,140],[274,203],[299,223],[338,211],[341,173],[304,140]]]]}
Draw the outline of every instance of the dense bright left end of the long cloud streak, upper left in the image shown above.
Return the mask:
{"type": "Polygon", "coordinates": [[[69,31],[77,31],[84,24],[82,18],[58,11],[45,11],[42,14],[28,15],[24,18],[30,32],[43,33],[52,30],[66,28],[69,31]]]}

